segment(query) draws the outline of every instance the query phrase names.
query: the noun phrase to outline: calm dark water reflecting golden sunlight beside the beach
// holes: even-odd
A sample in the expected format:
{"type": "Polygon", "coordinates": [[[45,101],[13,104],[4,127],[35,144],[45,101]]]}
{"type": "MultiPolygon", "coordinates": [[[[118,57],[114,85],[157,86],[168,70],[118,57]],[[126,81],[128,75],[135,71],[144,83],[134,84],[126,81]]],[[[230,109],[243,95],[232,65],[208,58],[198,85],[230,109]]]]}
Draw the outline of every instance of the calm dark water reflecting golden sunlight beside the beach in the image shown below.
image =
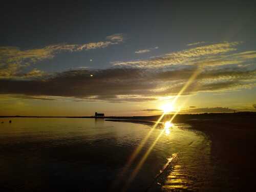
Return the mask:
{"type": "Polygon", "coordinates": [[[186,124],[155,129],[123,172],[151,126],[82,118],[8,121],[0,124],[1,191],[197,191],[209,186],[210,142],[186,124]]]}

